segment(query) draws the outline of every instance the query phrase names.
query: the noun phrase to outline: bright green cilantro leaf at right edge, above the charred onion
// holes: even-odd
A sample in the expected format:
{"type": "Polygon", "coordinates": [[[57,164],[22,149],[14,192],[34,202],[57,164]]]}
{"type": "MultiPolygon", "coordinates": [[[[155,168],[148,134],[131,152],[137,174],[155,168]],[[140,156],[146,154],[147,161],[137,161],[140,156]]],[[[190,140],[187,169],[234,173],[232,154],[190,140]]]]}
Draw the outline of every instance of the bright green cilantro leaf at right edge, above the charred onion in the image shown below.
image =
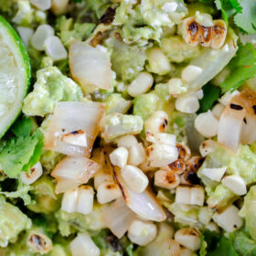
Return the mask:
{"type": "Polygon", "coordinates": [[[238,89],[240,85],[256,74],[256,50],[251,43],[240,45],[237,56],[228,65],[230,76],[220,84],[222,92],[238,89]]]}

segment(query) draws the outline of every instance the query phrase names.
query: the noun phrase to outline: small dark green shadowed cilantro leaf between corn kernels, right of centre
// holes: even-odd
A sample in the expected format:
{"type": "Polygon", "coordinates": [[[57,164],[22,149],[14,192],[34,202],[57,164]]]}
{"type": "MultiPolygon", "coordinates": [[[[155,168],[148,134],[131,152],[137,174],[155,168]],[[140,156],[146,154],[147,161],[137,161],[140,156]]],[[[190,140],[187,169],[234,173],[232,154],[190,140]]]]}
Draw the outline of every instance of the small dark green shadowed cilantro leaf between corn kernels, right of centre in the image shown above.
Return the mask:
{"type": "Polygon", "coordinates": [[[198,113],[200,112],[208,112],[215,103],[219,99],[220,89],[210,83],[206,84],[202,90],[204,91],[204,97],[199,101],[200,108],[198,113]]]}

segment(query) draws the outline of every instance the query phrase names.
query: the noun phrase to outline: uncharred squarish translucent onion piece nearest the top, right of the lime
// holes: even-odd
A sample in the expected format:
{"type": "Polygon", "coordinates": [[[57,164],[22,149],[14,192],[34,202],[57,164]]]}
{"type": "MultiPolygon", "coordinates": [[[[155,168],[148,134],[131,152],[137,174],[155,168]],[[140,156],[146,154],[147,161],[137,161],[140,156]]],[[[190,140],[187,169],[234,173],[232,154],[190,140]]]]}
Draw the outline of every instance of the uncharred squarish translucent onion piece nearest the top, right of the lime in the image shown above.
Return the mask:
{"type": "Polygon", "coordinates": [[[111,60],[106,52],[89,44],[73,41],[69,47],[69,67],[72,78],[86,90],[95,86],[111,90],[111,60]]]}

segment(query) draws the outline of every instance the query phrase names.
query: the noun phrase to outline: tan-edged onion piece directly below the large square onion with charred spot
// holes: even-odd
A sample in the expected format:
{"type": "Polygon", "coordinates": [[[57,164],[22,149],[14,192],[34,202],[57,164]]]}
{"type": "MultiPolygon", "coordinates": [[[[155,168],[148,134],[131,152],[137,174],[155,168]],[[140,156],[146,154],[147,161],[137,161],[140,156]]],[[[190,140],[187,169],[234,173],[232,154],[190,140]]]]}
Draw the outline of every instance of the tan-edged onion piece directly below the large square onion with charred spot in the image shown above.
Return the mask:
{"type": "Polygon", "coordinates": [[[81,156],[66,156],[51,172],[54,176],[61,180],[58,192],[65,192],[76,185],[85,184],[100,169],[100,165],[91,159],[81,156]],[[68,182],[69,181],[69,182],[68,182]],[[66,185],[67,187],[63,187],[66,185]],[[64,191],[63,191],[64,190],[64,191]]]}

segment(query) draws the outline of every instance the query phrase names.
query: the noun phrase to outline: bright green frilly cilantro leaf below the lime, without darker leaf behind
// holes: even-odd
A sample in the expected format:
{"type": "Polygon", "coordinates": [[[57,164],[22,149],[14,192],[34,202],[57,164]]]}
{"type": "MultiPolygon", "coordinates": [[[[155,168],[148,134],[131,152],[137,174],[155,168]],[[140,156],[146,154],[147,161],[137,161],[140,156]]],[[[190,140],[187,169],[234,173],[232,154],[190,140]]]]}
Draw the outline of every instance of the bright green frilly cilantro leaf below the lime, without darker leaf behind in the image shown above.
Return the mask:
{"type": "Polygon", "coordinates": [[[12,138],[0,153],[0,163],[5,175],[16,177],[21,171],[28,171],[39,161],[43,149],[44,135],[40,130],[32,136],[12,138]]]}

